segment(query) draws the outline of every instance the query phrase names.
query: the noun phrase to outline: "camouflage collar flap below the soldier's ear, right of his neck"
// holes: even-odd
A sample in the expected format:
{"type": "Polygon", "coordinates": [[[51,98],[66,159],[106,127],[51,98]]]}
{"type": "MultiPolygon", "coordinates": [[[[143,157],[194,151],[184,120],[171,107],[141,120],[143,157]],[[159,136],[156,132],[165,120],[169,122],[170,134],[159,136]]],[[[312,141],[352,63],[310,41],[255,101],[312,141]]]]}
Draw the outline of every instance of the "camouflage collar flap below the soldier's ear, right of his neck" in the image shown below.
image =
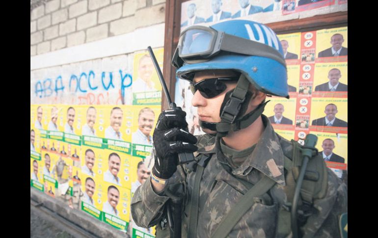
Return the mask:
{"type": "MultiPolygon", "coordinates": [[[[284,155],[277,135],[275,134],[268,117],[261,115],[265,130],[257,142],[251,155],[249,155],[239,168],[232,171],[235,175],[246,176],[251,167],[256,168],[280,185],[285,185],[284,155]]],[[[217,146],[218,140],[216,141],[217,146]]],[[[218,158],[220,159],[220,158],[218,158]]],[[[219,162],[228,163],[226,160],[219,162]]]]}

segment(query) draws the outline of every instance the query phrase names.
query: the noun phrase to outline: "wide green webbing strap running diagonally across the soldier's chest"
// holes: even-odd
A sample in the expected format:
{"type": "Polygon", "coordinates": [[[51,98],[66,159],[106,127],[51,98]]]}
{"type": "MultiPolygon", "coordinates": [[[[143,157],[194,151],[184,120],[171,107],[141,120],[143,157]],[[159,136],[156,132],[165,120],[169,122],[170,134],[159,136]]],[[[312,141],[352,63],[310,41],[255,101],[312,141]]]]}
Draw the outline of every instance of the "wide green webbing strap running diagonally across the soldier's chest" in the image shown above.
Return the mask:
{"type": "Polygon", "coordinates": [[[245,193],[238,203],[233,206],[230,213],[218,224],[214,231],[212,238],[225,238],[231,232],[232,228],[239,222],[242,216],[247,212],[255,203],[254,197],[264,195],[275,184],[275,181],[265,176],[257,182],[251,189],[245,193]]]}

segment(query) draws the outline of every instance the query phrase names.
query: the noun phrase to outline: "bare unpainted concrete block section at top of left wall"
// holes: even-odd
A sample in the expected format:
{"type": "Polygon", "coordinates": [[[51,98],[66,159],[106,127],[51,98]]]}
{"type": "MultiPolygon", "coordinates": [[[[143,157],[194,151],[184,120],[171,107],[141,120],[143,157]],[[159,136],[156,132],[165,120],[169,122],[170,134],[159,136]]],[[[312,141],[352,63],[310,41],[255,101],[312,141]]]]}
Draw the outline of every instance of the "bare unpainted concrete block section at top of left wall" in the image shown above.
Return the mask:
{"type": "Polygon", "coordinates": [[[30,56],[164,22],[165,0],[51,0],[30,10],[30,56]]]}

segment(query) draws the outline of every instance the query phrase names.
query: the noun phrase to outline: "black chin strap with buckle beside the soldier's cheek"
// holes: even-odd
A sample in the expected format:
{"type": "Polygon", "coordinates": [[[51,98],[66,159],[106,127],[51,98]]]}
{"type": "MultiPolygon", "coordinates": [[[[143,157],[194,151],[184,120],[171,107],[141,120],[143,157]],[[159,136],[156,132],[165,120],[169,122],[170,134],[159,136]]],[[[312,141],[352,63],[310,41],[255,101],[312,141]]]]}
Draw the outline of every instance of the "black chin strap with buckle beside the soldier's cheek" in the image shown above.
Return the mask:
{"type": "Polygon", "coordinates": [[[238,84],[231,93],[226,105],[223,107],[220,119],[221,123],[231,124],[235,121],[239,114],[240,108],[245,100],[245,95],[248,91],[249,81],[243,74],[240,75],[238,84]]]}

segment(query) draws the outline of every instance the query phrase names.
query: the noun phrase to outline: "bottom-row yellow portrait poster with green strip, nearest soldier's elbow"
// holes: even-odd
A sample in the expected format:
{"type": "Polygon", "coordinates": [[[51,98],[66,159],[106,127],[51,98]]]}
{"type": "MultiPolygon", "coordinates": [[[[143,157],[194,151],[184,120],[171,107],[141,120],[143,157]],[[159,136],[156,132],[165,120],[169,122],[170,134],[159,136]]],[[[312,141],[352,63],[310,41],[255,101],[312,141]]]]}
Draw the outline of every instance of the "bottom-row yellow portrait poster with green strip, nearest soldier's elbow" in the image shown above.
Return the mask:
{"type": "Polygon", "coordinates": [[[103,182],[102,221],[126,232],[130,221],[130,189],[103,182]]]}

